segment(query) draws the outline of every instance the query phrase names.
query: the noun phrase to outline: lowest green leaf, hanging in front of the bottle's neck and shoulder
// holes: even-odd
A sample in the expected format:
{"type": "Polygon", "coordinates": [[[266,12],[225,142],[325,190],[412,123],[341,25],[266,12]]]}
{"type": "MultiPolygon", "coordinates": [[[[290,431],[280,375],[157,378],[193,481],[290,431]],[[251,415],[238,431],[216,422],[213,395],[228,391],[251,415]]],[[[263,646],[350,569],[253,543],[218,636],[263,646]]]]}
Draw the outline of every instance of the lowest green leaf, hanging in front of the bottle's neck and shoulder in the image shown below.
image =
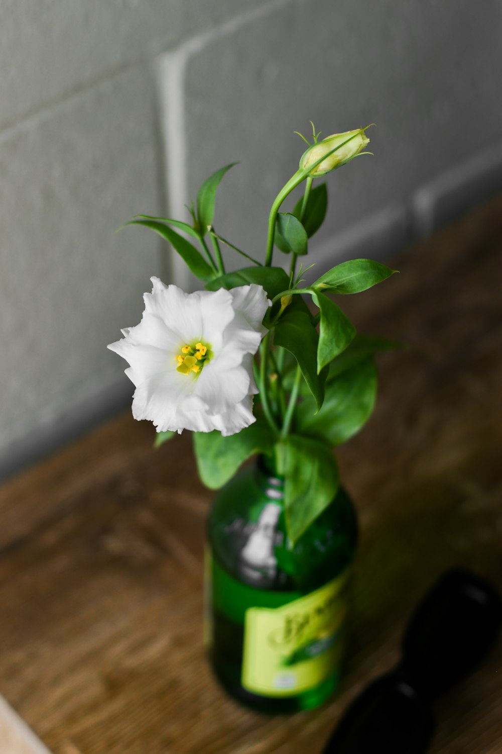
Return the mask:
{"type": "Polygon", "coordinates": [[[276,447],[284,474],[284,517],[296,543],[336,495],[339,474],[330,447],[309,437],[288,435],[276,447]]]}

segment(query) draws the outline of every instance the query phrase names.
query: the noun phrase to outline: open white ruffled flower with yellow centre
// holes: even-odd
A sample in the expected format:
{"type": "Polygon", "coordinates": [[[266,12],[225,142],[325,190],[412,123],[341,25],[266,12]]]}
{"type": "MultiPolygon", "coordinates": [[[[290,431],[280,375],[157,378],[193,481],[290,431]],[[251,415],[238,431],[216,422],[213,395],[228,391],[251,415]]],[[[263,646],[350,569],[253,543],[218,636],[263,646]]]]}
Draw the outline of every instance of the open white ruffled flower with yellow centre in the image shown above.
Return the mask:
{"type": "Polygon", "coordinates": [[[184,293],[158,277],[151,281],[141,322],[108,345],[130,364],[134,418],[180,434],[217,429],[227,436],[251,425],[253,354],[270,305],[263,288],[184,293]]]}

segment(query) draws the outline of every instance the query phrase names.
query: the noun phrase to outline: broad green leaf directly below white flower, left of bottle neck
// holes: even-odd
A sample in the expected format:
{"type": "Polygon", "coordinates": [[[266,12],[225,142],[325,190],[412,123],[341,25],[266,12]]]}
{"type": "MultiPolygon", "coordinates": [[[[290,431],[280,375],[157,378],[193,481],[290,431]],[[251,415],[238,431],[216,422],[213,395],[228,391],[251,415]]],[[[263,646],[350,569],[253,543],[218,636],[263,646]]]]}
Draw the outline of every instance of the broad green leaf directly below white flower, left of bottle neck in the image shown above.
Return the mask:
{"type": "Polygon", "coordinates": [[[261,417],[230,437],[223,437],[218,431],[194,433],[193,446],[202,483],[210,489],[218,489],[251,455],[270,452],[274,440],[269,425],[261,417]]]}

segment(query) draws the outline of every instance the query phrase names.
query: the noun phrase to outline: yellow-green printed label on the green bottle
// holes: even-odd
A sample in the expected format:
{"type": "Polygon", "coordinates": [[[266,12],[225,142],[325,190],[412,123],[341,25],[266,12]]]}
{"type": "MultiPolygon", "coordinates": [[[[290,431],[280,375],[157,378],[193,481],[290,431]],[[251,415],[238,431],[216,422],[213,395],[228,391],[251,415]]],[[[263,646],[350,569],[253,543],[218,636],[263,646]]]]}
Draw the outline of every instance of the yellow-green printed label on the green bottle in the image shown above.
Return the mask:
{"type": "Polygon", "coordinates": [[[315,688],[339,667],[347,572],[278,608],[245,612],[242,686],[269,697],[315,688]]]}

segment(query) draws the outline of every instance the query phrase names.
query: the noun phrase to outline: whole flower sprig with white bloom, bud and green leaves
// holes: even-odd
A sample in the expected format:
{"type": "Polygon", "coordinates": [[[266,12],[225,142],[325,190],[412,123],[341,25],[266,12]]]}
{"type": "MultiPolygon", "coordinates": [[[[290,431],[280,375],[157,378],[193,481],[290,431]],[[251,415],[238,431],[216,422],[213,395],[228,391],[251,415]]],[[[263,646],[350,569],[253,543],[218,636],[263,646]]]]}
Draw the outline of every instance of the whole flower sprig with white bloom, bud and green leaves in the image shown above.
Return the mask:
{"type": "Polygon", "coordinates": [[[322,140],[312,130],[312,143],[300,134],[307,143],[300,167],[272,204],[263,255],[251,255],[215,229],[218,186],[233,164],[202,184],[191,222],[138,215],[127,223],[160,234],[204,287],[185,293],[152,277],[141,322],[108,346],[129,363],[132,414],[153,421],[157,446],[184,429],[193,432],[206,486],[223,486],[251,455],[273,458],[284,476],[293,544],[336,495],[333,447],[373,411],[375,352],[397,345],[357,333],[332,298],[367,290],[394,270],[352,259],[317,275],[314,264],[303,262],[327,212],[327,184],[314,185],[315,179],[368,154],[369,143],[367,128],[322,140]],[[303,197],[282,211],[302,183],[303,197]],[[245,266],[227,272],[224,250],[241,255],[245,266]],[[288,272],[273,263],[275,250],[291,259],[288,272]]]}

